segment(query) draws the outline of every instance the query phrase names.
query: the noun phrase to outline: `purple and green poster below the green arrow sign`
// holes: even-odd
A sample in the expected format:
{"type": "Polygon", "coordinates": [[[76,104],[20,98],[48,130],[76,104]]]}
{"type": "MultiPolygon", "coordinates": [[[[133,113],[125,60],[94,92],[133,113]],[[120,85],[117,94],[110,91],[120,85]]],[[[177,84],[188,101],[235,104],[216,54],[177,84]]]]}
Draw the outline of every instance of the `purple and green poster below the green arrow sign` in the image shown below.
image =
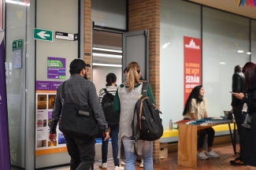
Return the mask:
{"type": "Polygon", "coordinates": [[[47,57],[47,78],[66,78],[66,59],[61,57],[47,57]]]}

